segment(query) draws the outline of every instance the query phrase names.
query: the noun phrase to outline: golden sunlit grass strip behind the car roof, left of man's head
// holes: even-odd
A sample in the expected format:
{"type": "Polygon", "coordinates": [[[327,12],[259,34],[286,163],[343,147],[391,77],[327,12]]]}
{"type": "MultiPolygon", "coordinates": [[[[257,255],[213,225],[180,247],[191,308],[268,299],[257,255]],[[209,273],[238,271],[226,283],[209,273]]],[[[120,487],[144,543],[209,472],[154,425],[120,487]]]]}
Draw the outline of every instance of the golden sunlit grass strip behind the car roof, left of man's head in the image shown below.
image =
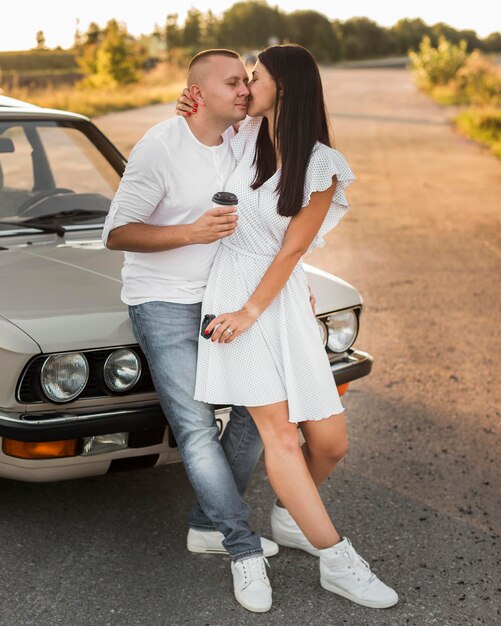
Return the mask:
{"type": "Polygon", "coordinates": [[[184,86],[185,70],[160,63],[131,85],[101,89],[85,87],[82,83],[36,90],[21,87],[9,90],[5,95],[49,109],[94,117],[112,111],[173,102],[184,86]]]}

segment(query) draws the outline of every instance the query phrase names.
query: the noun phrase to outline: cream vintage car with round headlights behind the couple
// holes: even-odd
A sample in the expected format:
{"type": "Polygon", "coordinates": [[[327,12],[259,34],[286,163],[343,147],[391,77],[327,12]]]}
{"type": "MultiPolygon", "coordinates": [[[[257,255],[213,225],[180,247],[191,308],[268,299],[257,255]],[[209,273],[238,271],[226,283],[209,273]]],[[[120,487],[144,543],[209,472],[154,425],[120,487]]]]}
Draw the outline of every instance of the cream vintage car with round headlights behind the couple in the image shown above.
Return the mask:
{"type": "MultiPolygon", "coordinates": [[[[54,481],[179,461],[101,229],[125,159],[87,118],[0,96],[0,477],[54,481]]],[[[362,297],[307,266],[340,394],[362,297]]],[[[216,410],[220,426],[225,407],[216,410]]]]}

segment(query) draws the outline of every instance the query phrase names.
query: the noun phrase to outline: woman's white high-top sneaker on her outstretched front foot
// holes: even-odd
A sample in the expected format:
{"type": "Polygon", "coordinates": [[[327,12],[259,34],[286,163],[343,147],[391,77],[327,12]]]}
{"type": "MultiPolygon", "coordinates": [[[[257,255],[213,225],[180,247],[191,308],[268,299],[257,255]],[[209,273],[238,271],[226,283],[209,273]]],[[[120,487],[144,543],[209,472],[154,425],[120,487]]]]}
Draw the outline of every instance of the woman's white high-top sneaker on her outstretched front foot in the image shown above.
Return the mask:
{"type": "Polygon", "coordinates": [[[320,584],[327,591],[374,609],[398,602],[396,592],[371,572],[347,537],[332,548],[320,550],[320,584]]]}

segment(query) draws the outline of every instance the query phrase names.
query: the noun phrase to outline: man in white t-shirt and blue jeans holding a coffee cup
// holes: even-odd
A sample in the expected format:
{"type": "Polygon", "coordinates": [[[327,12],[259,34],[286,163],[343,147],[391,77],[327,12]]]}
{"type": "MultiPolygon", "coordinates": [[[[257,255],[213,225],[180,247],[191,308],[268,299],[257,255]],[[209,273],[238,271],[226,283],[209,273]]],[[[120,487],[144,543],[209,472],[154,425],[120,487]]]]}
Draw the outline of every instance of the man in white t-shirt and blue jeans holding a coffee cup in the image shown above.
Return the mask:
{"type": "Polygon", "coordinates": [[[208,50],[192,59],[188,87],[198,114],[161,122],[136,144],[103,242],[125,251],[122,300],[198,498],[188,549],[225,548],[236,599],[264,612],[272,594],[263,553],[276,554],[278,546],[251,531],[242,498],[260,437],[246,409],[233,407],[220,442],[213,407],[193,399],[204,287],[219,240],[237,227],[235,207],[207,207],[235,167],[229,141],[232,124],[246,115],[247,81],[235,52],[208,50]]]}

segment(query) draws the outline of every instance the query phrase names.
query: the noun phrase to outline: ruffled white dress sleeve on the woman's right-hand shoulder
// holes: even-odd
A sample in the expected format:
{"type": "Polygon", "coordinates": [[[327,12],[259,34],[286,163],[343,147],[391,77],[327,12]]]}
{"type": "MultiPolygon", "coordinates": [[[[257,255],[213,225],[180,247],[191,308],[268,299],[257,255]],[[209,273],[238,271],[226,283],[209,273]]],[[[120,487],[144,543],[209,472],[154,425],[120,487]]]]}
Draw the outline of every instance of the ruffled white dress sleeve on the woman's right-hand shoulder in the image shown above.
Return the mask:
{"type": "Polygon", "coordinates": [[[306,170],[303,206],[309,204],[312,193],[328,189],[332,185],[332,177],[334,175],[337,177],[334,197],[320,230],[308,248],[308,252],[311,252],[314,248],[325,246],[324,236],[337,226],[341,218],[348,212],[350,205],[344,190],[356,180],[350,166],[340,152],[325,144],[317,143],[306,170]]]}

